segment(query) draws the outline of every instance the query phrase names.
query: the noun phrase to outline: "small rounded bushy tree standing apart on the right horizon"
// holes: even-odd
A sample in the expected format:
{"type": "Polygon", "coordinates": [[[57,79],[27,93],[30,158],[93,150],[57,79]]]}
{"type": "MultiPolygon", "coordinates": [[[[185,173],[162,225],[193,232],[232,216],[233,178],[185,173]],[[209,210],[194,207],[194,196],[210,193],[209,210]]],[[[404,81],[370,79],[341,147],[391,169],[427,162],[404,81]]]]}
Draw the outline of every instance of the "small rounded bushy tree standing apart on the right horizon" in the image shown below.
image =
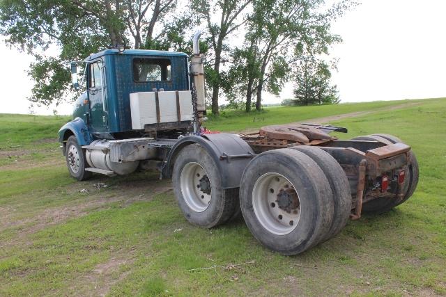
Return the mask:
{"type": "Polygon", "coordinates": [[[337,86],[330,84],[330,66],[315,58],[300,61],[296,68],[294,102],[297,105],[337,104],[337,86]]]}

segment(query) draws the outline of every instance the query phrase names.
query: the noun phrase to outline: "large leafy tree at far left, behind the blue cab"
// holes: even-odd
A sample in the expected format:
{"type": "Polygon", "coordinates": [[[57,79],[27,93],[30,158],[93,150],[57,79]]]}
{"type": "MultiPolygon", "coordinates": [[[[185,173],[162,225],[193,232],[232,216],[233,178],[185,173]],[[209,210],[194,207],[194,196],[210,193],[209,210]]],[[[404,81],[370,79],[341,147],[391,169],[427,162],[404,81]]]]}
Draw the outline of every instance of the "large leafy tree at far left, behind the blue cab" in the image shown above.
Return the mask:
{"type": "Polygon", "coordinates": [[[116,45],[171,46],[164,41],[169,33],[185,28],[176,27],[182,18],[167,17],[175,6],[176,0],[3,0],[0,34],[6,36],[7,45],[36,57],[29,70],[35,82],[30,101],[59,104],[75,96],[69,61],[116,45]],[[162,29],[154,36],[156,24],[162,29]],[[59,56],[45,56],[51,45],[60,48],[59,56]]]}

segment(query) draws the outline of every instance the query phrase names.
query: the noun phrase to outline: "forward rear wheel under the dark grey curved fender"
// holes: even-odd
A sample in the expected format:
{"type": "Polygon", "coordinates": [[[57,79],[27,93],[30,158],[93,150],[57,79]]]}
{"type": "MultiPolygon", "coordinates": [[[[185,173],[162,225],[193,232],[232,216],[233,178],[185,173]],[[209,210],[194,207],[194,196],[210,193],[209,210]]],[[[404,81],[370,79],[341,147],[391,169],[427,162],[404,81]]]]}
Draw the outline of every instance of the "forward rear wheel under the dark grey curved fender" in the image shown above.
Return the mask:
{"type": "Polygon", "coordinates": [[[234,214],[236,189],[223,189],[212,157],[200,145],[187,145],[176,157],[174,193],[185,218],[199,227],[226,223],[234,214]]]}

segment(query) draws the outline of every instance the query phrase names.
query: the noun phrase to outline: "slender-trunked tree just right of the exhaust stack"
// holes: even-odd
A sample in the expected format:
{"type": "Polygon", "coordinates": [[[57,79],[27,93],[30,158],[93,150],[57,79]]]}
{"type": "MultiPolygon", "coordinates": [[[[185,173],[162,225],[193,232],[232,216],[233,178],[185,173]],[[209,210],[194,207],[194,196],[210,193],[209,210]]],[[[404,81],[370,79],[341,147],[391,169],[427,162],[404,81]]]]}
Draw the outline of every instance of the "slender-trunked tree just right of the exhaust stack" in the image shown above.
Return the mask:
{"type": "Polygon", "coordinates": [[[206,80],[212,88],[212,113],[218,114],[218,97],[222,86],[222,62],[229,45],[226,41],[231,33],[243,26],[247,18],[243,12],[252,0],[192,0],[192,10],[200,19],[204,19],[210,34],[210,45],[213,49],[213,68],[206,71],[206,80]],[[219,13],[220,22],[213,22],[213,15],[219,13]]]}

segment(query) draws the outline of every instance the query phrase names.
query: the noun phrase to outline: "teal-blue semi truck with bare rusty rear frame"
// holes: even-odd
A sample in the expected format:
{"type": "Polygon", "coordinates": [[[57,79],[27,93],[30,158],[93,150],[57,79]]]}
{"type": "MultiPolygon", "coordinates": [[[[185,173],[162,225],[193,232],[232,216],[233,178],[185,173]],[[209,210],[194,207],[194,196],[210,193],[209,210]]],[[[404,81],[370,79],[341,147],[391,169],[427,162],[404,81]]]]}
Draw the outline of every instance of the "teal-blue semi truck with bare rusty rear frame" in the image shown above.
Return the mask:
{"type": "Polygon", "coordinates": [[[418,182],[409,145],[388,134],[340,140],[332,125],[210,133],[200,32],[193,54],[106,49],[71,63],[84,93],[59,130],[70,175],[128,175],[156,164],[171,178],[186,220],[204,228],[243,216],[252,235],[283,255],[336,236],[349,219],[405,202],[418,182]]]}

